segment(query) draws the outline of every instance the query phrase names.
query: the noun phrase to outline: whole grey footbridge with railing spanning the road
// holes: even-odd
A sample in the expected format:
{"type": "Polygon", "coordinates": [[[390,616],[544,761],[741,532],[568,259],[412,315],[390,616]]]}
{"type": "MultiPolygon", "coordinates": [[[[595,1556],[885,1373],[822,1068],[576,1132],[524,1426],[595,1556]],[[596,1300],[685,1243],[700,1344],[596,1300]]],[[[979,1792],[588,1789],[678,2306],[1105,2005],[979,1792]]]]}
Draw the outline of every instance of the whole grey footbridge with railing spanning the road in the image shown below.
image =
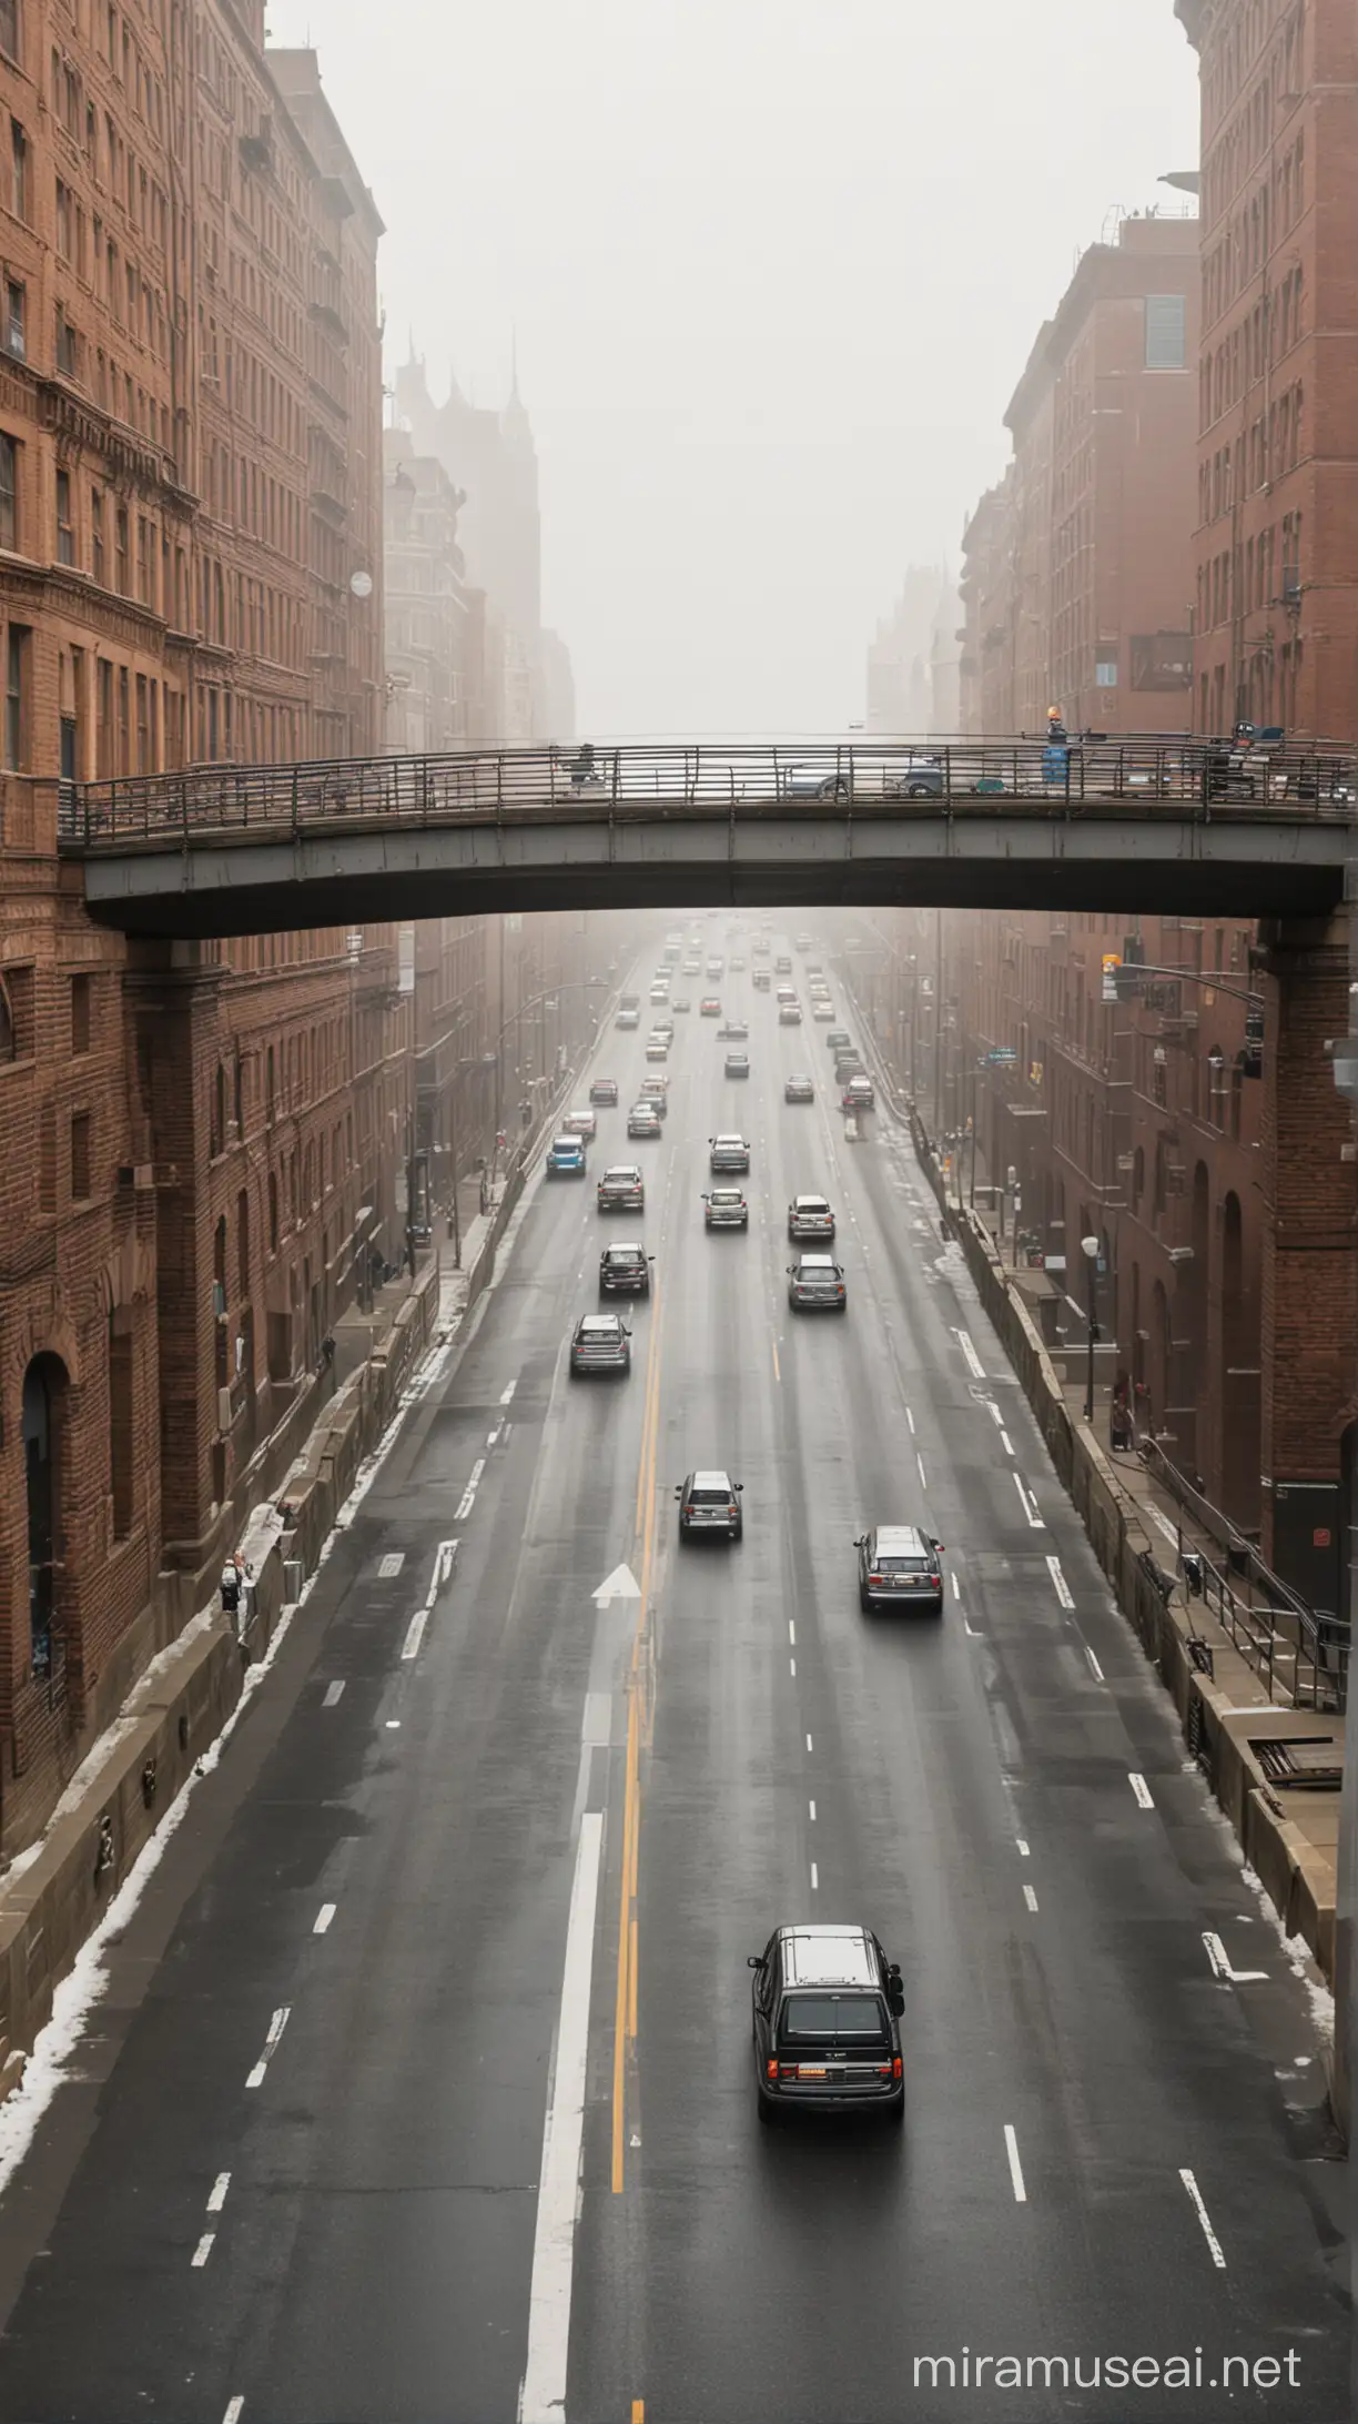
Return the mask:
{"type": "Polygon", "coordinates": [[[1358,766],[1196,739],[480,749],[65,783],[58,841],[90,914],[141,936],[832,902],[1324,916],[1358,766]]]}

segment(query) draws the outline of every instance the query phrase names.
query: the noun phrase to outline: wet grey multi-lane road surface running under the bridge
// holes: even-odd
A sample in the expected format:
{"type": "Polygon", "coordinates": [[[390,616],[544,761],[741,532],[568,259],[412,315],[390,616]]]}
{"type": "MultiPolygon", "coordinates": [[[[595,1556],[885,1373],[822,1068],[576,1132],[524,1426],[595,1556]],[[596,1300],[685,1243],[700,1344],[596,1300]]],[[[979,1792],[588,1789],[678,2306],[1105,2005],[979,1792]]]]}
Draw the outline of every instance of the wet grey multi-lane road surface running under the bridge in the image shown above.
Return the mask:
{"type": "Polygon", "coordinates": [[[1307,1985],[907,1139],[720,991],[752,1079],[679,1016],[657,1144],[645,1028],[604,1035],[587,1185],[529,1190],[112,1954],[0,2201],[7,2424],[1348,2412],[1307,1985]],[[752,1227],[708,1236],[723,1127],[752,1227]],[[618,1159],[643,1222],[594,1210],[618,1159]],[[844,1319],[786,1304],[812,1188],[844,1319]],[[633,1234],[633,1374],[572,1382],[633,1234]],[[740,1547],[679,1551],[694,1464],[740,1547]],[[892,1520],[941,1622],[858,1610],[892,1520]],[[905,2131],[759,2128],[744,1956],[791,1917],[902,1963],[905,2131]]]}

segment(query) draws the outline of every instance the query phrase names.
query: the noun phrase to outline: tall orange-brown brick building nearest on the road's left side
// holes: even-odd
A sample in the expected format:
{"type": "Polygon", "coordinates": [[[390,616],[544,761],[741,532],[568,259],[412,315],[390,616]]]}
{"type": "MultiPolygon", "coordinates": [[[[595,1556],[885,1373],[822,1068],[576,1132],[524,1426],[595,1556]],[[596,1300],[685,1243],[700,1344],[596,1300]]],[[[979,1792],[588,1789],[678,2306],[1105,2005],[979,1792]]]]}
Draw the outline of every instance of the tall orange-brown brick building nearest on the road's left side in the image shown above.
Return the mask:
{"type": "Polygon", "coordinates": [[[56,858],[61,776],[376,747],[371,196],[255,0],[0,0],[0,92],[7,1854],[400,1251],[415,1105],[393,928],[129,950],[56,858]]]}

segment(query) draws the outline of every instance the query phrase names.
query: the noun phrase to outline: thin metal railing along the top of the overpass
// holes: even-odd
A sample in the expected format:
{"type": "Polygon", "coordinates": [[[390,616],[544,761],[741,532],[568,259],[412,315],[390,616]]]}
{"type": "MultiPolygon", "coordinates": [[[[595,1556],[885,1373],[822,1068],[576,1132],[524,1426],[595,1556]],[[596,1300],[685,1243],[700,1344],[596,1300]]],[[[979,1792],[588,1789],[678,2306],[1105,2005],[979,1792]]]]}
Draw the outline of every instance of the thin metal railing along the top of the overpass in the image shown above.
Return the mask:
{"type": "Polygon", "coordinates": [[[276,836],[318,824],[759,814],[837,805],[854,814],[1023,810],[1210,817],[1212,807],[1351,819],[1358,759],[1331,742],[1232,749],[1145,734],[951,742],[781,742],[468,749],[449,756],[192,766],[63,783],[65,848],[276,836]]]}

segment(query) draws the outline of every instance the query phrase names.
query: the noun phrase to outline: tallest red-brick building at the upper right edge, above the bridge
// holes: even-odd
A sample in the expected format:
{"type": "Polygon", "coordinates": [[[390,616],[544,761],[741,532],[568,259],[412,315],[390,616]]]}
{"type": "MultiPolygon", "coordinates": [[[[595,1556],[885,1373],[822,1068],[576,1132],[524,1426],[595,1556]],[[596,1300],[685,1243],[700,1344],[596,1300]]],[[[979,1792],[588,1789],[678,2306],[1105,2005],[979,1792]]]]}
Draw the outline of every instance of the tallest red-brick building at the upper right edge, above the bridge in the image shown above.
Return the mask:
{"type": "Polygon", "coordinates": [[[1358,22],[1176,0],[1203,85],[1198,725],[1353,739],[1358,22]]]}

